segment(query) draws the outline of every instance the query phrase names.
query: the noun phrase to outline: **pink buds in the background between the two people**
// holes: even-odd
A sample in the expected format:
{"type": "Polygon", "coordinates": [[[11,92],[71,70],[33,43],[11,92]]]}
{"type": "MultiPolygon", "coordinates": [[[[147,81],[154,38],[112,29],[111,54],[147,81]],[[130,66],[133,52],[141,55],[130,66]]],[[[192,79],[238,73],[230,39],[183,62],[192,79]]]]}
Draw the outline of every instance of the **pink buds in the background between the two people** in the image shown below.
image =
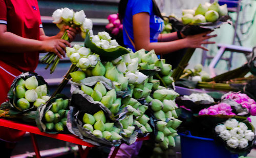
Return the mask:
{"type": "Polygon", "coordinates": [[[123,25],[118,18],[118,14],[110,14],[108,20],[110,23],[106,25],[106,29],[110,30],[113,35],[117,35],[119,31],[123,30],[123,25]]]}

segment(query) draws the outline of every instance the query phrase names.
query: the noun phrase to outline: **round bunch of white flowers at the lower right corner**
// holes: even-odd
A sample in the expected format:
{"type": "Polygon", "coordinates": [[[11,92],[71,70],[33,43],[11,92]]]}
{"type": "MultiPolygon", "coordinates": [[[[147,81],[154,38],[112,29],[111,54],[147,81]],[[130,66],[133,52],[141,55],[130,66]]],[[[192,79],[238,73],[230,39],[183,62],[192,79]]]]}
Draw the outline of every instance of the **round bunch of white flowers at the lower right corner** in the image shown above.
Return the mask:
{"type": "Polygon", "coordinates": [[[244,149],[249,144],[249,141],[254,140],[254,132],[248,130],[248,127],[243,122],[238,122],[236,119],[229,119],[224,124],[217,125],[215,132],[219,137],[226,141],[231,148],[244,149]]]}

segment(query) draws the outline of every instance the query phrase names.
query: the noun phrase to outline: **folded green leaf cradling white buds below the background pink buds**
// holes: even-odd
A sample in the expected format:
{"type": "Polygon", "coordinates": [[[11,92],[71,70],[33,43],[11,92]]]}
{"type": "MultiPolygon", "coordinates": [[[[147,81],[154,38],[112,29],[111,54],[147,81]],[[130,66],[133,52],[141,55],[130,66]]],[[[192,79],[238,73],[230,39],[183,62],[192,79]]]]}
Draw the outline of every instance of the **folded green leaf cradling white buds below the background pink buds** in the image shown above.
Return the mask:
{"type": "Polygon", "coordinates": [[[130,53],[126,48],[118,46],[111,49],[102,49],[101,47],[96,46],[92,42],[90,35],[87,33],[86,39],[84,40],[84,47],[90,48],[92,52],[100,56],[101,61],[112,61],[124,54],[130,53]]]}

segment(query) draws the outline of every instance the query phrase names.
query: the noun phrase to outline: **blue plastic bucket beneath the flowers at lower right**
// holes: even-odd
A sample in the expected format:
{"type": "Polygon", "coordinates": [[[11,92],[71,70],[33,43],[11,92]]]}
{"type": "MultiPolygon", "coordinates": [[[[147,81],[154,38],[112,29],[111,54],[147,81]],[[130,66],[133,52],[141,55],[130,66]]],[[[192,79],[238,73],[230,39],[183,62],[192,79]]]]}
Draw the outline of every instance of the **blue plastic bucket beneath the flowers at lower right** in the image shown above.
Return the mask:
{"type": "Polygon", "coordinates": [[[224,145],[218,145],[214,139],[202,138],[179,133],[182,158],[238,158],[224,145]]]}

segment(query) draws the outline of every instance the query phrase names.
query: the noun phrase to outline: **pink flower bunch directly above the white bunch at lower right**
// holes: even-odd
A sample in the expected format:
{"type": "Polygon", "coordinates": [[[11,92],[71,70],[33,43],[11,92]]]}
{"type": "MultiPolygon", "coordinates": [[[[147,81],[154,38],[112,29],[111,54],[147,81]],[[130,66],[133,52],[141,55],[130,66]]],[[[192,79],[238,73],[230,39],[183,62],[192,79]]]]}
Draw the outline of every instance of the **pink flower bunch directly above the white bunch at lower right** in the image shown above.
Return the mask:
{"type": "Polygon", "coordinates": [[[199,111],[199,115],[236,115],[230,105],[219,103],[199,111]]]}

